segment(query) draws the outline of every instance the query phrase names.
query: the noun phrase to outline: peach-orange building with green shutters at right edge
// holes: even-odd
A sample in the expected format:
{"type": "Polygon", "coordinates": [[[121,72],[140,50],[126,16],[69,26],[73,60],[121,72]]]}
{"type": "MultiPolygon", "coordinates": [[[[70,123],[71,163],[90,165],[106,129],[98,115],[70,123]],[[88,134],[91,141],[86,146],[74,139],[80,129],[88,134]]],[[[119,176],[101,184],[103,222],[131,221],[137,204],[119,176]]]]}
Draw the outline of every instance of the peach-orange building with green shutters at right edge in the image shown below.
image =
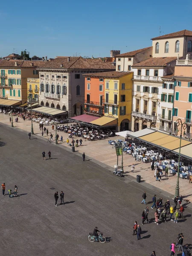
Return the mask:
{"type": "Polygon", "coordinates": [[[173,127],[176,132],[176,121],[180,118],[187,125],[185,137],[192,138],[192,59],[189,58],[187,54],[185,60],[178,59],[175,66],[173,127]]]}

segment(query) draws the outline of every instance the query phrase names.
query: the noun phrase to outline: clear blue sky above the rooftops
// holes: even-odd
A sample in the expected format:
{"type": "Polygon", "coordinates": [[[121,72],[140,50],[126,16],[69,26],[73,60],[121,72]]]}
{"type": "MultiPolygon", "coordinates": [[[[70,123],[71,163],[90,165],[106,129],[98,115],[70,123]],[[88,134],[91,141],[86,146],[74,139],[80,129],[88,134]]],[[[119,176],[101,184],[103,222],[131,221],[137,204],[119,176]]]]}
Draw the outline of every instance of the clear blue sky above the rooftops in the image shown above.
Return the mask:
{"type": "Polygon", "coordinates": [[[0,56],[110,56],[151,46],[150,38],[192,30],[192,0],[9,0],[0,4],[0,56]],[[163,33],[164,32],[164,33],[163,33]]]}

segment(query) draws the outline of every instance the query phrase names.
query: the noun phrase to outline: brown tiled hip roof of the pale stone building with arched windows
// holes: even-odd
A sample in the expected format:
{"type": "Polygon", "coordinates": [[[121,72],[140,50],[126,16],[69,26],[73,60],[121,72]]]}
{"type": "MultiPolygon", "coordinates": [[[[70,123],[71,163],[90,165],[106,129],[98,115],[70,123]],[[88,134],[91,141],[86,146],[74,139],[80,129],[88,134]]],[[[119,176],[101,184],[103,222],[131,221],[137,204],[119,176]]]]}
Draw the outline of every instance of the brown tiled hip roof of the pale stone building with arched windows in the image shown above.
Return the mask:
{"type": "Polygon", "coordinates": [[[42,67],[45,69],[104,69],[115,70],[115,67],[107,62],[103,62],[100,59],[86,59],[82,57],[57,57],[51,61],[46,62],[42,67]],[[62,67],[61,67],[62,64],[62,67]]]}

